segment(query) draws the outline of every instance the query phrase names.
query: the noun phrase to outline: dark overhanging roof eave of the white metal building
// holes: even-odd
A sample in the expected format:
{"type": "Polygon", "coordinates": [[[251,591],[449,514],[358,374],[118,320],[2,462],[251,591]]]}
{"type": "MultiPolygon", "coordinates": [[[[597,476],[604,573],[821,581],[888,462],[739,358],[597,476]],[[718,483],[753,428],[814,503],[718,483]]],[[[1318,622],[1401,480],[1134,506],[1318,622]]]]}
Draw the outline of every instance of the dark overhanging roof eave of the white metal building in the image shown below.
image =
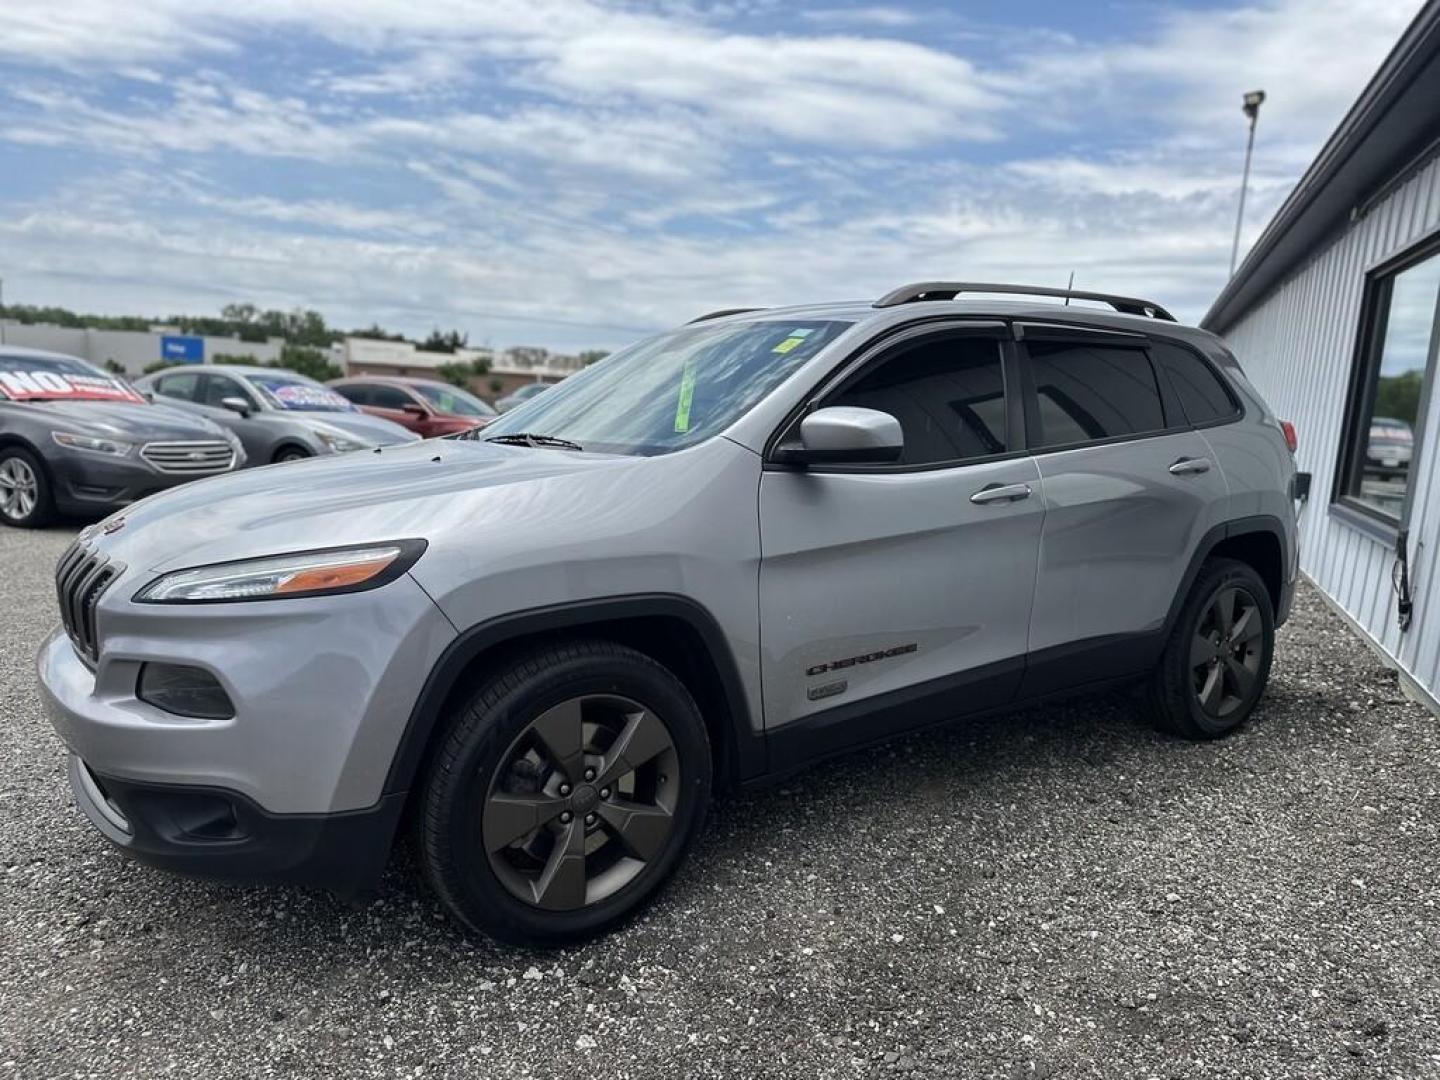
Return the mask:
{"type": "Polygon", "coordinates": [[[1201,320],[1221,334],[1440,140],[1440,0],[1427,0],[1201,320]]]}

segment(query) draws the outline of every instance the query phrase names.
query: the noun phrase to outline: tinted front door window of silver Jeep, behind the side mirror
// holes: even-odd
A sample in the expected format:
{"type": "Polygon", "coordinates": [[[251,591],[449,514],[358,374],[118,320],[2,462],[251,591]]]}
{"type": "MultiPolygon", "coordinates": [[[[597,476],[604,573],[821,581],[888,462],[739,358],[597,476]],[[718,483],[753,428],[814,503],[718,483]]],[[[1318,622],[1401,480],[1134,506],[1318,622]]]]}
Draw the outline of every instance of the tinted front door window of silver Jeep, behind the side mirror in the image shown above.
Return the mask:
{"type": "Polygon", "coordinates": [[[919,341],[865,372],[827,405],[880,409],[900,420],[900,465],[984,458],[1007,448],[999,343],[988,338],[919,341]]]}

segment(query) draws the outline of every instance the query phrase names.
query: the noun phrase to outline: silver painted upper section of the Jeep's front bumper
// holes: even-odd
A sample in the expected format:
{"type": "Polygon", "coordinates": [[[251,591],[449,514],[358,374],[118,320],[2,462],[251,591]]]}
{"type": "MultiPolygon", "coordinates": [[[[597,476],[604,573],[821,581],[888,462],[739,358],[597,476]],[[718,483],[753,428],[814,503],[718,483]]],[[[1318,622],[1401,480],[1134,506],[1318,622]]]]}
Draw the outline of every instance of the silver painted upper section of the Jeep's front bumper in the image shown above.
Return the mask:
{"type": "Polygon", "coordinates": [[[370,592],[295,600],[145,605],[154,575],[127,572],[95,609],[89,665],[62,629],[36,658],[66,747],[98,775],[233,792],[266,814],[380,802],[426,675],[455,636],[409,576],[370,592]],[[209,671],[235,716],[176,716],[137,694],[145,662],[209,671]]]}

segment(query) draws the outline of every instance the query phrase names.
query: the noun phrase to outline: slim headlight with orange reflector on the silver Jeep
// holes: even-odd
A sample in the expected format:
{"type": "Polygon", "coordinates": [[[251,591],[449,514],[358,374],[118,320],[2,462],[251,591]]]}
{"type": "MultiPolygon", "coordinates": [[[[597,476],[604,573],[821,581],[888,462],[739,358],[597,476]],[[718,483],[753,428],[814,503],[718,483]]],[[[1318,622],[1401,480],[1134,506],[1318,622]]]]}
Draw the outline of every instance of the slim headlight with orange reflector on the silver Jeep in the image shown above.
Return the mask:
{"type": "Polygon", "coordinates": [[[331,547],[197,566],[151,582],[135,593],[135,600],[226,603],[377,589],[409,570],[422,552],[423,540],[393,540],[364,547],[331,547]]]}

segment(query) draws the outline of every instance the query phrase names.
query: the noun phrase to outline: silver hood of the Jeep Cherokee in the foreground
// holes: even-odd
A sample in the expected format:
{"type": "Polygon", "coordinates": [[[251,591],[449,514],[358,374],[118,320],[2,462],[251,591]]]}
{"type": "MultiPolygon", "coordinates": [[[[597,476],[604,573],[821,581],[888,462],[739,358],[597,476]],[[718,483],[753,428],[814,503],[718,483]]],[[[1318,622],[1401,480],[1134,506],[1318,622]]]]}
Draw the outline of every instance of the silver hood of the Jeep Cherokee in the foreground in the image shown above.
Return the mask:
{"type": "Polygon", "coordinates": [[[429,439],[171,488],[114,514],[124,526],[95,543],[153,570],[412,537],[471,544],[487,527],[540,543],[546,527],[579,526],[661,461],[429,439]]]}

